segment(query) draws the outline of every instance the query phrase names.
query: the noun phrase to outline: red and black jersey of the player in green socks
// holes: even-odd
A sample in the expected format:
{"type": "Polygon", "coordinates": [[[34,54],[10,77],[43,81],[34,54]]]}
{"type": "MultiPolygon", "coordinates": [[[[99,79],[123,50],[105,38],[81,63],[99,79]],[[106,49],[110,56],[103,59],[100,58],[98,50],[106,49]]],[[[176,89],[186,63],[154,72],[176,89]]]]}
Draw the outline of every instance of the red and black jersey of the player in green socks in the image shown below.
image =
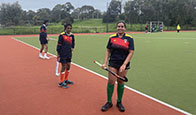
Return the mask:
{"type": "Polygon", "coordinates": [[[124,61],[129,54],[129,50],[134,50],[134,41],[128,34],[124,34],[122,38],[118,34],[114,34],[110,36],[107,48],[110,49],[110,60],[124,61]]]}

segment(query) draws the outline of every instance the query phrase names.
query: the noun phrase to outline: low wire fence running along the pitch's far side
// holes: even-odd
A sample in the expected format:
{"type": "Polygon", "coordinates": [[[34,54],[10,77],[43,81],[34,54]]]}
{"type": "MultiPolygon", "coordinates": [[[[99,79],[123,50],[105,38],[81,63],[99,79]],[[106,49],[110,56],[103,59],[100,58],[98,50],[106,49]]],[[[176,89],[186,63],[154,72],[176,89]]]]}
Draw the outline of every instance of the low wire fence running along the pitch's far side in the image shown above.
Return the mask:
{"type": "MultiPolygon", "coordinates": [[[[127,24],[127,31],[144,31],[145,24],[127,24]]],[[[63,26],[48,26],[48,34],[59,34],[63,30],[63,26]]],[[[176,27],[165,26],[165,30],[176,30],[176,27]]],[[[196,27],[182,26],[182,30],[196,30],[196,27]]],[[[25,35],[25,34],[39,34],[39,27],[0,27],[0,35],[25,35]]],[[[73,33],[103,33],[116,32],[115,24],[106,24],[105,26],[73,26],[73,33]]]]}

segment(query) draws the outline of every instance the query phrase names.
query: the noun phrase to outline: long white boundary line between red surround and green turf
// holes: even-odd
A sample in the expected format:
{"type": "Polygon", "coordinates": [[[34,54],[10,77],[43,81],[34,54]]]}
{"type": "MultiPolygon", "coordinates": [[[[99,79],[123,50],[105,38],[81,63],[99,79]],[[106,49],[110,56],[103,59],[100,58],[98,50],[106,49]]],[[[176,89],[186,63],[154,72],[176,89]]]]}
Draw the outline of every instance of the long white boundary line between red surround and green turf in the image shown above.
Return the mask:
{"type": "MultiPolygon", "coordinates": [[[[34,48],[34,49],[39,50],[39,48],[37,48],[37,47],[35,47],[35,46],[33,46],[33,45],[30,45],[30,44],[28,44],[28,43],[25,43],[25,42],[23,42],[23,41],[20,41],[20,40],[18,40],[18,39],[15,39],[14,37],[12,37],[12,39],[14,39],[14,40],[16,40],[16,41],[18,41],[18,42],[20,42],[20,43],[23,43],[23,44],[25,44],[25,45],[27,45],[27,46],[30,46],[30,47],[32,47],[32,48],[34,48]]],[[[48,53],[48,54],[50,54],[50,55],[56,57],[56,55],[54,55],[54,54],[52,54],[52,53],[48,53]]],[[[104,78],[104,79],[108,79],[107,77],[105,77],[105,76],[103,76],[103,75],[101,75],[101,74],[99,74],[99,73],[96,73],[96,72],[94,72],[94,71],[92,71],[92,70],[89,70],[89,69],[87,69],[87,68],[85,68],[85,67],[82,67],[82,66],[80,66],[80,65],[78,65],[78,64],[75,64],[75,63],[72,63],[72,64],[75,65],[75,66],[77,66],[77,67],[79,67],[79,68],[82,68],[82,69],[84,69],[84,70],[86,70],[86,71],[88,71],[88,72],[91,72],[91,73],[93,73],[93,74],[95,74],[95,75],[98,75],[98,76],[100,76],[100,77],[102,77],[102,78],[104,78]]],[[[192,115],[191,113],[188,113],[188,112],[186,112],[186,111],[184,111],[184,110],[181,110],[181,109],[179,109],[179,108],[177,108],[177,107],[174,107],[174,106],[172,106],[172,105],[170,105],[170,104],[167,104],[167,103],[165,103],[165,102],[163,102],[163,101],[160,101],[160,100],[158,100],[158,99],[156,99],[156,98],[154,98],[154,97],[151,97],[151,96],[149,96],[149,95],[146,95],[146,94],[144,94],[144,93],[142,93],[142,92],[139,92],[139,91],[137,91],[137,90],[135,90],[135,89],[133,89],[133,88],[130,88],[130,87],[126,86],[126,85],[125,85],[125,87],[126,87],[127,89],[129,89],[129,90],[135,92],[135,93],[138,93],[138,94],[140,94],[140,95],[142,95],[142,96],[144,96],[144,97],[147,97],[147,98],[149,98],[149,99],[151,99],[151,100],[153,100],[153,101],[156,101],[156,102],[158,102],[158,103],[160,103],[160,104],[163,104],[163,105],[165,105],[165,106],[167,106],[167,107],[170,107],[170,108],[172,108],[172,109],[174,109],[174,110],[176,110],[176,111],[179,111],[179,112],[184,113],[184,114],[186,114],[186,115],[192,115]]]]}

